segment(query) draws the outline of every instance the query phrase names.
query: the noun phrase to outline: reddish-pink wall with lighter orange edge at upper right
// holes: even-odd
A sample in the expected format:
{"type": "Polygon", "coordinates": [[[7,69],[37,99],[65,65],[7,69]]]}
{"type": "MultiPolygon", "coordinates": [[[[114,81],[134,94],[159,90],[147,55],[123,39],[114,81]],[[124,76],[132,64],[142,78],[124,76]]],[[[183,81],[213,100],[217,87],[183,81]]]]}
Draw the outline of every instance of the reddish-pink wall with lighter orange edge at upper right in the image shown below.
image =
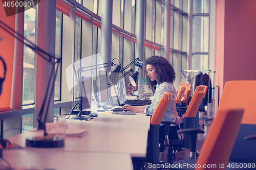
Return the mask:
{"type": "MultiPolygon", "coordinates": [[[[216,83],[256,80],[254,0],[216,1],[216,83]]],[[[242,87],[241,87],[242,88],[242,87]]]]}

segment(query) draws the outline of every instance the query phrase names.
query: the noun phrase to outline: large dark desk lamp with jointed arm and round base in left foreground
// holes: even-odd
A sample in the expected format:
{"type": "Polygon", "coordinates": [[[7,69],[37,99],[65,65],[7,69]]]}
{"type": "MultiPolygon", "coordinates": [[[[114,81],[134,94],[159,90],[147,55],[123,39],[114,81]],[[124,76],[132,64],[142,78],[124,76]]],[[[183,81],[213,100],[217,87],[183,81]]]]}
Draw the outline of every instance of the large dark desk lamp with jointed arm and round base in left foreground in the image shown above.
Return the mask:
{"type": "Polygon", "coordinates": [[[39,48],[37,45],[35,45],[33,42],[26,39],[23,35],[20,35],[15,30],[10,28],[8,25],[6,25],[3,21],[0,20],[0,27],[5,30],[8,34],[12,35],[14,38],[16,38],[18,41],[24,43],[27,45],[31,50],[33,50],[38,56],[42,57],[49,63],[51,63],[51,77],[49,79],[48,85],[47,85],[47,91],[44,98],[44,101],[42,103],[42,106],[40,108],[37,121],[38,121],[38,128],[37,130],[44,130],[44,136],[35,136],[30,137],[26,139],[26,145],[27,147],[36,147],[36,148],[57,148],[57,147],[63,147],[64,146],[64,138],[62,137],[49,137],[46,133],[46,117],[48,114],[48,108],[50,105],[50,98],[51,95],[54,93],[54,83],[57,75],[57,70],[59,66],[59,62],[61,58],[57,58],[41,48],[39,48]],[[26,42],[25,42],[26,41],[26,42]],[[56,65],[57,64],[57,65],[56,65]],[[55,71],[55,65],[56,71],[55,71]],[[49,93],[50,92],[50,93],[49,93]],[[45,112],[45,116],[43,116],[43,113],[45,112]]]}

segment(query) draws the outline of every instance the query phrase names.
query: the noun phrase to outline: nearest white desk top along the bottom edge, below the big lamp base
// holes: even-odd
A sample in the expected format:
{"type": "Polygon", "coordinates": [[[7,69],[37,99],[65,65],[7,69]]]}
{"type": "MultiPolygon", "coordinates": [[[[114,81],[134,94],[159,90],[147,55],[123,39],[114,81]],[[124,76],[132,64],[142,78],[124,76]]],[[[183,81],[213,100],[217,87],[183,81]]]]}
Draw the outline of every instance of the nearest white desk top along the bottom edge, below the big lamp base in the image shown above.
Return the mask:
{"type": "MultiPolygon", "coordinates": [[[[63,149],[26,148],[4,150],[3,158],[14,169],[133,169],[129,154],[67,152],[63,151],[63,149]]],[[[0,159],[0,164],[7,166],[3,159],[0,159]]]]}

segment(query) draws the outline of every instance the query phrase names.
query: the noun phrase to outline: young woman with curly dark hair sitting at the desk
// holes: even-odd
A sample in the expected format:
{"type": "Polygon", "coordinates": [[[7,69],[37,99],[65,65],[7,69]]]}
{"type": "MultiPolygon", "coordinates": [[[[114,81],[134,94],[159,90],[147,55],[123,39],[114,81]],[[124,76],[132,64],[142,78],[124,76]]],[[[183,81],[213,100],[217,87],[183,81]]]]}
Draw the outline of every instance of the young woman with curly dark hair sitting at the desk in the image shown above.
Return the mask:
{"type": "Polygon", "coordinates": [[[176,95],[177,91],[173,82],[176,78],[173,66],[163,57],[152,56],[145,60],[144,77],[146,78],[147,86],[150,88],[154,95],[151,105],[146,106],[130,106],[124,105],[121,110],[136,111],[138,113],[146,113],[153,115],[159,100],[164,91],[168,91],[173,95],[162,120],[169,120],[175,122],[178,117],[176,111],[176,95]]]}

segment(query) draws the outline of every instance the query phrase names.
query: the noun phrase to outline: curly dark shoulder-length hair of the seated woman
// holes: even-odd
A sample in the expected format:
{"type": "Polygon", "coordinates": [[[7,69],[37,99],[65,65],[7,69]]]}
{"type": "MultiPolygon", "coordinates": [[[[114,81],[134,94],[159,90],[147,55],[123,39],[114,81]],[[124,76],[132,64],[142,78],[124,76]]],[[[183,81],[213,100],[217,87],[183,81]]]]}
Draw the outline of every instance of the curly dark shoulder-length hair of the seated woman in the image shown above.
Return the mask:
{"type": "Polygon", "coordinates": [[[161,84],[163,82],[174,83],[176,79],[176,73],[172,64],[170,64],[165,58],[159,56],[152,56],[145,60],[144,62],[144,79],[146,80],[146,84],[148,88],[155,91],[156,85],[161,84]],[[155,67],[157,72],[157,80],[159,82],[151,81],[147,76],[146,65],[151,64],[155,67]]]}

